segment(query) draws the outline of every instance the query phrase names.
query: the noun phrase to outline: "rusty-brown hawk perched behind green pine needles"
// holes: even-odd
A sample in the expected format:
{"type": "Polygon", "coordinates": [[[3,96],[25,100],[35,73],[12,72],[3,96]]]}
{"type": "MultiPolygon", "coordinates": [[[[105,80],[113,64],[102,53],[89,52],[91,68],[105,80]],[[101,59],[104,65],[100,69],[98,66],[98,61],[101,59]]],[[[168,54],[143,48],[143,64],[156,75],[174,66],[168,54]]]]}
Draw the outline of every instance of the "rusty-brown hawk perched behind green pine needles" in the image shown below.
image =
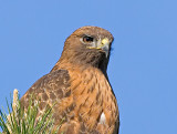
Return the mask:
{"type": "Polygon", "coordinates": [[[51,72],[39,79],[22,96],[28,107],[30,94],[40,97],[39,114],[52,107],[59,133],[118,134],[117,101],[106,73],[113,35],[98,27],[82,27],[64,43],[51,72]]]}

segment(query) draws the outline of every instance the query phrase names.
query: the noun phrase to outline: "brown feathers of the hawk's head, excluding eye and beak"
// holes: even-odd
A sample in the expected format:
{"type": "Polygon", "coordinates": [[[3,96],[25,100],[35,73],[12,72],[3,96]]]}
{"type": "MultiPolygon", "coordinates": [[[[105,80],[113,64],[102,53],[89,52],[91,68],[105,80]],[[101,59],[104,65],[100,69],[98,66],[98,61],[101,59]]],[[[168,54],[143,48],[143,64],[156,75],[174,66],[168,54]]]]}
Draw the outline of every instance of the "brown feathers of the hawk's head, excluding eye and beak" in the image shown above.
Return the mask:
{"type": "Polygon", "coordinates": [[[77,65],[91,65],[106,72],[110,59],[110,52],[106,56],[104,51],[97,49],[88,49],[90,44],[85,44],[82,40],[85,35],[94,38],[94,41],[107,38],[110,40],[110,49],[113,42],[113,35],[105,29],[98,27],[82,27],[74,31],[65,41],[61,59],[58,61],[52,71],[58,70],[62,64],[71,63],[77,65]]]}

